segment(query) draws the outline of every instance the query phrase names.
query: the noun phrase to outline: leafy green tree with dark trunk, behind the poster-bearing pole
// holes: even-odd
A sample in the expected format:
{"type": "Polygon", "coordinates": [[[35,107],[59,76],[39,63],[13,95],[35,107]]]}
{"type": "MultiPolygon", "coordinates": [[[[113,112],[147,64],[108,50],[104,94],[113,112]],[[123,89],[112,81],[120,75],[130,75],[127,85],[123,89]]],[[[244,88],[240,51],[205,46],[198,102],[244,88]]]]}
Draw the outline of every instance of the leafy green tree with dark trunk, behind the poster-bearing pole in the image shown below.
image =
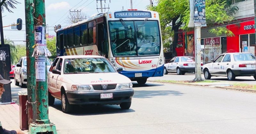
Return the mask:
{"type": "MultiPolygon", "coordinates": [[[[157,11],[160,17],[161,29],[164,31],[168,25],[172,27],[173,42],[170,45],[172,56],[177,56],[176,46],[178,43],[179,29],[185,31],[193,30],[188,28],[190,18],[189,0],[158,0],[157,5],[148,7],[150,10],[157,11]],[[183,25],[184,24],[184,25],[183,25]]],[[[233,14],[238,10],[224,0],[205,1],[205,14],[207,28],[211,33],[220,35],[225,33],[227,36],[234,34],[224,25],[234,20],[233,14]],[[217,25],[217,27],[215,27],[217,25]]]]}

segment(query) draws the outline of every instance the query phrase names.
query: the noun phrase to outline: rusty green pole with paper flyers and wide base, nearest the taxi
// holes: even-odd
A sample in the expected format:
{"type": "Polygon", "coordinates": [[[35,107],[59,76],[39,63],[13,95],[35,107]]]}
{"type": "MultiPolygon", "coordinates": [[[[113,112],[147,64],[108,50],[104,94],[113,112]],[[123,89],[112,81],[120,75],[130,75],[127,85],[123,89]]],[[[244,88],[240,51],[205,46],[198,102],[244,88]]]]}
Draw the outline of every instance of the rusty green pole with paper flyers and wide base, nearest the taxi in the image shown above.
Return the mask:
{"type": "MultiPolygon", "coordinates": [[[[34,0],[35,2],[35,31],[36,36],[39,35],[37,38],[35,38],[35,44],[37,44],[37,40],[41,40],[40,44],[46,45],[46,39],[45,39],[45,4],[44,0],[34,0]],[[36,31],[36,28],[40,29],[41,33],[37,34],[38,31],[36,31]],[[45,42],[44,42],[45,41],[45,42]]],[[[38,47],[38,46],[36,46],[38,47]]],[[[44,53],[40,52],[39,53],[44,53]]],[[[31,123],[29,126],[28,133],[29,134],[37,134],[37,133],[52,133],[57,134],[55,124],[50,123],[49,117],[48,117],[48,87],[47,87],[47,69],[46,69],[46,62],[44,63],[44,71],[39,72],[39,65],[37,62],[39,61],[46,61],[46,57],[44,55],[37,56],[36,55],[36,123],[31,123]],[[38,66],[37,66],[38,65],[38,66]],[[38,67],[38,68],[37,68],[38,67]],[[44,76],[40,76],[39,73],[44,73],[44,76]],[[40,76],[40,77],[39,77],[40,76]]],[[[41,65],[42,67],[42,65],[41,65]]],[[[42,68],[41,68],[42,69],[42,68]]],[[[41,70],[40,69],[40,70],[41,70]]]]}

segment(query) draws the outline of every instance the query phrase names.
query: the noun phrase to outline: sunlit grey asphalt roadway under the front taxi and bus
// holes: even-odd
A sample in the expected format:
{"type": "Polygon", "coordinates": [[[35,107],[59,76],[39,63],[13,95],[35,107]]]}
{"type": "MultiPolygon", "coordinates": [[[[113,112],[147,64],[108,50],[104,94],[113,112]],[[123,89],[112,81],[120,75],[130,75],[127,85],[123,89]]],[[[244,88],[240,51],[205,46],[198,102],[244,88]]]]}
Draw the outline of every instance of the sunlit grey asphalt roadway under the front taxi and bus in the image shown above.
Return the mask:
{"type": "MultiPolygon", "coordinates": [[[[170,75],[171,76],[171,75],[170,75]]],[[[49,107],[58,134],[241,134],[256,133],[256,94],[201,86],[133,83],[129,110],[116,105],[49,107]]],[[[21,89],[16,87],[15,93],[21,89]]],[[[13,85],[12,85],[13,88],[13,85]]],[[[13,91],[13,90],[12,90],[13,91]]]]}

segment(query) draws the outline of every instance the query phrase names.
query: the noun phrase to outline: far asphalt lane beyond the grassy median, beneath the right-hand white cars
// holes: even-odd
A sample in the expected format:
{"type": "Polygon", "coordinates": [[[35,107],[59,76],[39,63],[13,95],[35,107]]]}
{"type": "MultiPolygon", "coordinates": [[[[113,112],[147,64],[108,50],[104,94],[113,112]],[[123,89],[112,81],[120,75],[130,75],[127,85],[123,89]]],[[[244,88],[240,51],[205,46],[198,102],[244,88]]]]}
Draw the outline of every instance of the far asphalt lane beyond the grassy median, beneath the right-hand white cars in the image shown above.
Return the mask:
{"type": "MultiPolygon", "coordinates": [[[[204,75],[201,75],[202,79],[204,79],[204,75]]],[[[186,73],[185,75],[177,75],[177,73],[168,73],[163,77],[151,77],[148,80],[193,80],[195,78],[195,73],[186,73]]],[[[204,79],[205,80],[205,79],[204,79]]],[[[236,77],[234,81],[228,81],[227,77],[214,77],[210,80],[218,80],[222,82],[234,82],[234,83],[246,83],[256,85],[255,79],[253,76],[243,76],[243,77],[236,77]]]]}

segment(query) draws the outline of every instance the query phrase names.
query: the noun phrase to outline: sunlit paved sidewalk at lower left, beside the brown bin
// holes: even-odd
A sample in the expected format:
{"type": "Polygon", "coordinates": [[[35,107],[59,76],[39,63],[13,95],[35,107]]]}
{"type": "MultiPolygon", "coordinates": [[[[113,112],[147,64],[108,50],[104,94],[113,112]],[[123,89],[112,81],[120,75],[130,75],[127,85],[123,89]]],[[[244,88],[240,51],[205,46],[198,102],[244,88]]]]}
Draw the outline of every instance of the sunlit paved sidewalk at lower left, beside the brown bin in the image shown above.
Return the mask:
{"type": "MultiPolygon", "coordinates": [[[[20,129],[20,110],[16,103],[0,105],[0,120],[6,130],[20,129]]],[[[28,133],[28,130],[23,131],[28,133]]]]}

